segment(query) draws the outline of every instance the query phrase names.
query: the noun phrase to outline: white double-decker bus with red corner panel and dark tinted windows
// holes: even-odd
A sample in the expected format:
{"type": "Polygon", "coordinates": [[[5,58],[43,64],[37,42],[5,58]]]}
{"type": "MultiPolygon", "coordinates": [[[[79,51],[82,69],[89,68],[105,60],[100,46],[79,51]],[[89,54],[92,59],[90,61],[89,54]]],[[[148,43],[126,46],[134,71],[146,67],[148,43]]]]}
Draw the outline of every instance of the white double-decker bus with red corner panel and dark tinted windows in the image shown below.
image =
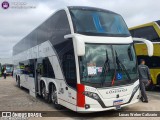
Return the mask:
{"type": "MultiPolygon", "coordinates": [[[[151,42],[135,40],[152,54],[151,42]]],[[[139,100],[133,39],[123,18],[108,10],[58,10],[14,46],[13,59],[17,85],[57,109],[96,112],[139,100]]]]}

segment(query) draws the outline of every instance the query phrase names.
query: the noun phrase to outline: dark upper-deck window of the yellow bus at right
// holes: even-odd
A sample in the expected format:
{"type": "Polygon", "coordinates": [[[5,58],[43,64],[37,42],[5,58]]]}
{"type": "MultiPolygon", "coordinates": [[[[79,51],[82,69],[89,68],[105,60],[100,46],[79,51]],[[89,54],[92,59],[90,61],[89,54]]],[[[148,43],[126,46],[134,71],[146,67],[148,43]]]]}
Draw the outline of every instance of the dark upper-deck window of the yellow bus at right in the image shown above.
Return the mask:
{"type": "Polygon", "coordinates": [[[158,34],[156,33],[153,26],[138,28],[135,30],[131,30],[131,34],[133,37],[137,38],[145,38],[151,40],[153,42],[160,41],[158,34]]]}

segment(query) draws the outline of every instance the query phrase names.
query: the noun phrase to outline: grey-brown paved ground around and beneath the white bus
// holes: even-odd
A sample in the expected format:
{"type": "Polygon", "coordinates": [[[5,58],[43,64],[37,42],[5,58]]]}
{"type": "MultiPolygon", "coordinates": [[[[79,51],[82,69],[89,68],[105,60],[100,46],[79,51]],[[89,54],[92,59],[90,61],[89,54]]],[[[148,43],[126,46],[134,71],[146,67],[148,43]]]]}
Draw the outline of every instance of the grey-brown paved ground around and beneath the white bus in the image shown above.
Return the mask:
{"type": "MultiPolygon", "coordinates": [[[[160,111],[160,91],[147,92],[149,97],[149,103],[136,103],[129,107],[123,108],[121,111],[160,111]]],[[[54,111],[52,115],[61,116],[55,117],[54,119],[108,119],[108,120],[136,120],[137,117],[108,117],[114,116],[118,113],[118,111],[106,111],[100,113],[89,114],[87,116],[94,116],[87,118],[86,115],[79,115],[75,112],[65,112],[67,109],[63,109],[63,111],[57,111],[54,109],[52,104],[45,103],[42,99],[35,99],[28,94],[28,91],[25,89],[20,89],[16,86],[13,78],[9,77],[6,80],[0,78],[0,111],[54,111]],[[63,117],[65,116],[65,117],[63,117]],[[79,118],[75,116],[83,116],[85,118],[79,118]],[[74,118],[73,118],[74,117],[74,118]]],[[[36,118],[32,118],[33,120],[36,118]]],[[[40,118],[38,118],[40,119],[40,118]]],[[[45,120],[53,119],[53,118],[42,118],[45,120]]],[[[138,118],[139,120],[151,120],[151,119],[160,119],[160,118],[138,118]]],[[[41,119],[40,119],[41,120],[41,119]]]]}

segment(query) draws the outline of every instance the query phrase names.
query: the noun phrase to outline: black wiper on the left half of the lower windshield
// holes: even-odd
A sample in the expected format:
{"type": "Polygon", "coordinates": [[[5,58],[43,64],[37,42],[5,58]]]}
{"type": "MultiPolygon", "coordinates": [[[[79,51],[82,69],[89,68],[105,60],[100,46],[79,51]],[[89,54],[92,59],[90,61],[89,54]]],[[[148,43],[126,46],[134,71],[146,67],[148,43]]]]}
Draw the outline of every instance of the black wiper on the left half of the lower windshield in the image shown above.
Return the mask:
{"type": "Polygon", "coordinates": [[[110,70],[110,64],[109,64],[109,58],[108,58],[108,51],[106,50],[106,60],[103,65],[103,70],[102,70],[102,74],[101,74],[102,75],[102,79],[101,79],[102,86],[104,85],[106,74],[107,74],[107,71],[109,71],[109,70],[110,70]],[[108,70],[107,70],[107,67],[108,67],[108,70]]]}

